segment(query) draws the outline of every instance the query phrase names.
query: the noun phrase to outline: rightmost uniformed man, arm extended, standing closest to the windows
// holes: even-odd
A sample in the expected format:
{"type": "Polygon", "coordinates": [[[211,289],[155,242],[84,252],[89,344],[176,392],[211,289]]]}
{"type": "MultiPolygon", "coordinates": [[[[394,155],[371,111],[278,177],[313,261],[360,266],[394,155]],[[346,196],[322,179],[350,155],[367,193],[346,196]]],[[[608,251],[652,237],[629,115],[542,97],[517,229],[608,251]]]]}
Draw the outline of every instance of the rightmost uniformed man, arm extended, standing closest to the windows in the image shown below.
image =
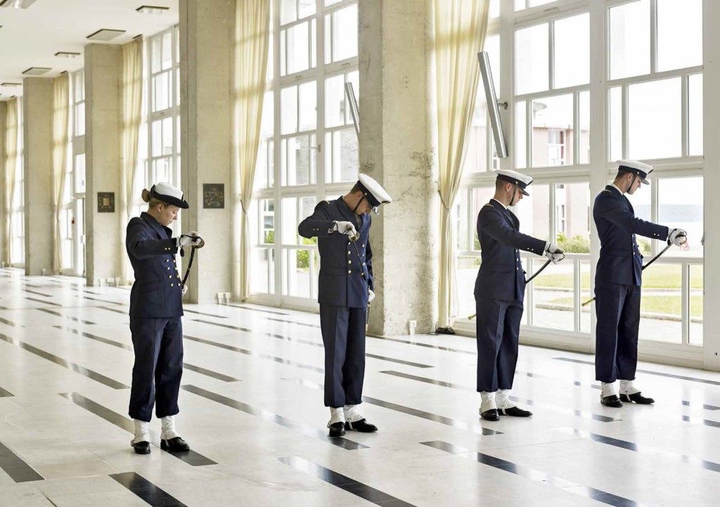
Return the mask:
{"type": "MultiPolygon", "coordinates": [[[[642,255],[635,235],[682,245],[687,234],[635,217],[625,194],[648,184],[652,166],[620,161],[615,181],[595,197],[593,217],[600,236],[600,259],[595,269],[595,380],[602,382],[600,403],[620,408],[623,402],[654,403],[633,385],[640,326],[642,255]],[[620,379],[620,398],[615,381],[620,379]]],[[[669,244],[668,243],[668,244],[669,244]]]]}

